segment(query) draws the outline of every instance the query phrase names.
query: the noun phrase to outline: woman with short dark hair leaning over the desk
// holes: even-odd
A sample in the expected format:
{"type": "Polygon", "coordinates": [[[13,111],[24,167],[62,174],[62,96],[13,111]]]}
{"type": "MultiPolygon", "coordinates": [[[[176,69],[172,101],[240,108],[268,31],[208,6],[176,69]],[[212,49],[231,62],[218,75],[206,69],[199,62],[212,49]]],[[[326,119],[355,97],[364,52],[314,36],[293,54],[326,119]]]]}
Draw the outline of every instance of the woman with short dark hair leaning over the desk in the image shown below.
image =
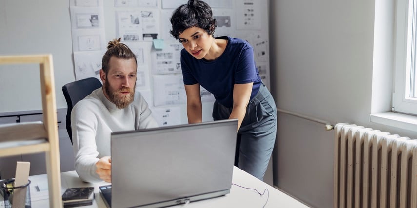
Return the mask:
{"type": "Polygon", "coordinates": [[[263,180],[277,133],[277,108],[256,68],[253,48],[238,38],[214,38],[210,6],[189,0],[171,17],[170,33],[184,46],[181,68],[189,123],[202,121],[200,85],[216,101],[213,119],[238,119],[235,165],[263,180]]]}

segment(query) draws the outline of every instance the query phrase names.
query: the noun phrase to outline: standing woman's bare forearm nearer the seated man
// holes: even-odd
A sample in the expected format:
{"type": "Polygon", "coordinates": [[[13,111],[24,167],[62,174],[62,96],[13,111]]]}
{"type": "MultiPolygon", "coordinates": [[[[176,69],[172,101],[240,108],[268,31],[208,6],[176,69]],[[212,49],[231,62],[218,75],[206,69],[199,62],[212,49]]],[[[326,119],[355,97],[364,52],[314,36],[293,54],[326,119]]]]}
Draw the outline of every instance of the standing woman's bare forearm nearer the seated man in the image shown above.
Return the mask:
{"type": "Polygon", "coordinates": [[[185,85],[185,93],[187,94],[187,117],[188,123],[200,123],[203,120],[201,107],[200,85],[185,85]]]}

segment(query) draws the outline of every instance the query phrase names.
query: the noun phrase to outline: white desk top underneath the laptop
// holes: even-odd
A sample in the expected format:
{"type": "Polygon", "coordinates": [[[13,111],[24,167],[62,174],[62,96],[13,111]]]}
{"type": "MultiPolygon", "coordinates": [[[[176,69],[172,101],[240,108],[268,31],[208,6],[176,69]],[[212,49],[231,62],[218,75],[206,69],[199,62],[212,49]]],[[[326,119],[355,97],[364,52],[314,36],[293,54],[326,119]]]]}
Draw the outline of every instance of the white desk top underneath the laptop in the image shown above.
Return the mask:
{"type": "MultiPolygon", "coordinates": [[[[62,193],[67,188],[94,186],[96,199],[94,200],[93,205],[85,207],[106,208],[106,205],[104,204],[103,199],[100,196],[98,187],[108,183],[100,182],[91,184],[82,182],[75,171],[62,172],[61,176],[62,193]]],[[[34,192],[36,191],[35,186],[37,186],[38,184],[43,184],[42,187],[47,187],[46,174],[30,176],[29,179],[32,181],[30,188],[32,208],[48,208],[49,201],[47,199],[47,190],[34,192]]],[[[260,193],[263,193],[264,189],[268,189],[269,199],[266,203],[265,208],[307,208],[306,205],[299,202],[298,200],[279,191],[278,189],[269,186],[268,184],[258,180],[252,175],[246,173],[245,171],[238,169],[237,167],[233,169],[232,183],[247,188],[257,189],[260,193]]],[[[238,186],[232,185],[230,193],[226,194],[225,196],[198,202],[191,202],[186,205],[176,205],[172,206],[171,208],[262,208],[267,198],[267,192],[265,193],[265,195],[259,196],[259,194],[254,190],[243,189],[238,186]]]]}

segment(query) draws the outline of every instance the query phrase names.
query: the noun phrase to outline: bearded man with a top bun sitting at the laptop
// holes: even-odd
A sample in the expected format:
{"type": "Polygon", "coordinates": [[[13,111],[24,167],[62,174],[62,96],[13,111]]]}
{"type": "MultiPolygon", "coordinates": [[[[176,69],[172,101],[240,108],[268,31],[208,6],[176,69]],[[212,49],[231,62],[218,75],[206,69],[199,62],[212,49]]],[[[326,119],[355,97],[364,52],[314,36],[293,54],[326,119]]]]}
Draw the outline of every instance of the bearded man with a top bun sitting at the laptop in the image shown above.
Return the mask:
{"type": "Polygon", "coordinates": [[[111,182],[110,134],[158,127],[148,104],[135,92],[135,54],[118,40],[103,56],[103,87],[80,100],[71,112],[75,170],[85,182],[111,182]]]}

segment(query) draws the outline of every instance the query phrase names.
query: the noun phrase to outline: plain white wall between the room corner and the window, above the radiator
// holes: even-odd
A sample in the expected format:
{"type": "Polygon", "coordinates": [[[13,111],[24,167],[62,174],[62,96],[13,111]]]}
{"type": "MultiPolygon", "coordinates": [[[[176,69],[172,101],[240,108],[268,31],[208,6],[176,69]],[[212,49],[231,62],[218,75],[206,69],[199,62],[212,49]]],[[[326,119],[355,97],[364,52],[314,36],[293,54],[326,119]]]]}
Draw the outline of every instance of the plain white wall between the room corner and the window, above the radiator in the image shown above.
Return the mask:
{"type": "MultiPolygon", "coordinates": [[[[392,47],[392,21],[380,21],[388,18],[375,12],[376,5],[392,16],[392,0],[271,1],[272,91],[278,108],[417,138],[416,132],[369,122],[371,112],[390,105],[390,96],[376,93],[391,91],[391,55],[380,50],[392,47]]],[[[278,113],[274,184],[312,207],[332,207],[333,133],[278,113]]]]}

